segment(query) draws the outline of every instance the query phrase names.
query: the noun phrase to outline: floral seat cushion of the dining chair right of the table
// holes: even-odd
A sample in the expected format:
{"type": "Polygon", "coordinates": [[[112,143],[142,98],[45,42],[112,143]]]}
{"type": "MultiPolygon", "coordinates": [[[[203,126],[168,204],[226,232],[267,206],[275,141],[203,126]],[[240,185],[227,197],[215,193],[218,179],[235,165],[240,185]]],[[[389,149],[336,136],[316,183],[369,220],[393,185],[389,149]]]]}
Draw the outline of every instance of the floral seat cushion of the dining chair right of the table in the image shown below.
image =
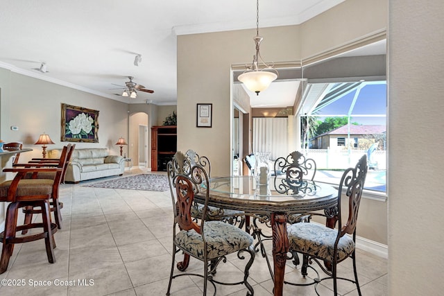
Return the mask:
{"type": "MultiPolygon", "coordinates": [[[[291,250],[333,261],[337,229],[316,223],[296,223],[289,225],[287,232],[291,250]]],[[[348,235],[341,237],[338,243],[338,260],[345,259],[353,250],[355,250],[355,242],[352,238],[348,235]]]]}

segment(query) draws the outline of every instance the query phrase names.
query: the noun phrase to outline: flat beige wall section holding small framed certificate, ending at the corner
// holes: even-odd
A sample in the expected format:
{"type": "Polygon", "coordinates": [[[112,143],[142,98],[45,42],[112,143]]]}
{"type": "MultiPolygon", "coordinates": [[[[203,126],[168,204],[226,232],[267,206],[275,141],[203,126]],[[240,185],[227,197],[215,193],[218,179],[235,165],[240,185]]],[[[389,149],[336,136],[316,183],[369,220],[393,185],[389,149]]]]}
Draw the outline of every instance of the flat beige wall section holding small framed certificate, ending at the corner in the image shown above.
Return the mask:
{"type": "MultiPolygon", "coordinates": [[[[297,26],[260,33],[267,61],[299,58],[297,26]]],[[[178,36],[178,150],[193,148],[210,157],[214,176],[230,173],[230,69],[251,61],[254,36],[255,30],[178,36]],[[196,103],[213,104],[212,128],[196,128],[196,103]]]]}

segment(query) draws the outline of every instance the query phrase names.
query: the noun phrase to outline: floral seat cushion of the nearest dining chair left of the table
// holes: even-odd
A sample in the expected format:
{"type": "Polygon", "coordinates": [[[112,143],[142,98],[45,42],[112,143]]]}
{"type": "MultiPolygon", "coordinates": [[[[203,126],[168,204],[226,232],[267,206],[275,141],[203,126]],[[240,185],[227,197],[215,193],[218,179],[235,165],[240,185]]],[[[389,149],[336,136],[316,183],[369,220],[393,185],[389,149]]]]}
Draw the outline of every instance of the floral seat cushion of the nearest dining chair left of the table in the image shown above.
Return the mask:
{"type": "MultiPolygon", "coordinates": [[[[207,241],[207,259],[214,259],[248,249],[253,244],[253,237],[233,225],[220,221],[208,221],[204,224],[207,241]]],[[[203,239],[196,231],[182,230],[176,234],[176,245],[182,250],[203,259],[203,239]]]]}

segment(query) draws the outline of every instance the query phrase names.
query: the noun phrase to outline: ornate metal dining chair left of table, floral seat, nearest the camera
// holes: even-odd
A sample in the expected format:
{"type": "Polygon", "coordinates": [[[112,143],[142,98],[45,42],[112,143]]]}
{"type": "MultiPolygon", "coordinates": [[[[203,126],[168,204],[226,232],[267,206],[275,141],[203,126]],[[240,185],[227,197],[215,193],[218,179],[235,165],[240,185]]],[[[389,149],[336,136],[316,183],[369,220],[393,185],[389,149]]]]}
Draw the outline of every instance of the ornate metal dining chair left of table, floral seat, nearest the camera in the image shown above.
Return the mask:
{"type": "MultiPolygon", "coordinates": [[[[209,184],[207,172],[200,166],[191,162],[189,157],[177,152],[173,160],[168,163],[167,173],[173,202],[173,255],[171,261],[171,275],[167,295],[171,290],[173,279],[182,276],[203,277],[203,295],[207,295],[207,282],[214,286],[216,295],[216,284],[237,285],[244,284],[248,289],[247,295],[253,295],[253,287],[248,283],[248,275],[251,265],[255,259],[253,249],[253,237],[234,225],[221,221],[207,221],[200,219],[200,225],[191,217],[191,207],[196,194],[200,192],[203,185],[209,184]],[[184,252],[200,261],[203,261],[203,275],[194,272],[182,272],[175,274],[174,265],[176,254],[184,252]],[[223,283],[215,279],[216,267],[221,261],[226,261],[228,254],[237,253],[239,259],[244,259],[244,252],[250,254],[250,260],[244,270],[244,279],[235,283],[223,283]]],[[[205,190],[205,204],[203,204],[203,217],[208,211],[210,189],[205,190]]],[[[178,269],[185,271],[184,266],[178,263],[178,269]]]]}

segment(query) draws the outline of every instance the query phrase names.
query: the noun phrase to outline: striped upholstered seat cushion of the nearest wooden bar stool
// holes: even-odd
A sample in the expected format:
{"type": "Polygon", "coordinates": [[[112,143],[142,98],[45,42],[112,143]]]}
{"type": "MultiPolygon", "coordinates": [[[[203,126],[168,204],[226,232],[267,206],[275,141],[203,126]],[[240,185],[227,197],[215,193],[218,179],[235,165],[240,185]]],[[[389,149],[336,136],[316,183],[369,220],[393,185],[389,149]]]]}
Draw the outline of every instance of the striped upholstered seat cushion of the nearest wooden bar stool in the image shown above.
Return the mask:
{"type": "MultiPolygon", "coordinates": [[[[8,189],[12,180],[5,181],[0,184],[0,198],[4,198],[8,195],[8,189]]],[[[48,179],[26,179],[20,180],[17,186],[17,196],[33,196],[33,195],[48,195],[53,191],[54,180],[48,179]]]]}

